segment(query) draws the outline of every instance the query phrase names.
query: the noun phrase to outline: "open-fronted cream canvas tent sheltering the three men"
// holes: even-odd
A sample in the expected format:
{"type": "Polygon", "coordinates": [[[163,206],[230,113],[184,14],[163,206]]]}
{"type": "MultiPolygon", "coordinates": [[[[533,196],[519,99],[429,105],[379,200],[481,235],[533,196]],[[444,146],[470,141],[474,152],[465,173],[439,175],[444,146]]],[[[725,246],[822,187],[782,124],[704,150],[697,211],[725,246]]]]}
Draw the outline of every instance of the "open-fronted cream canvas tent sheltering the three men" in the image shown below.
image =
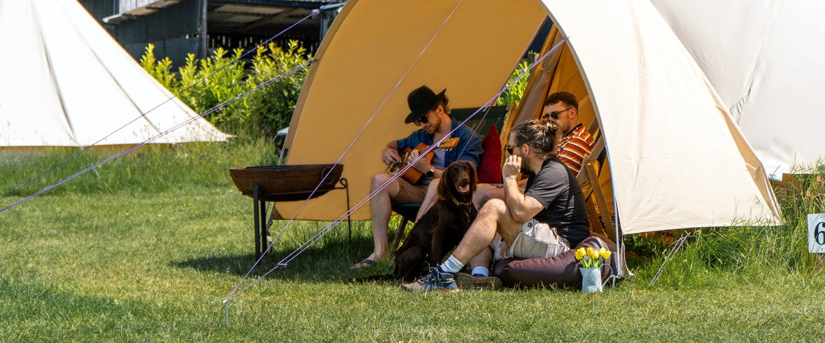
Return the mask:
{"type": "MultiPolygon", "coordinates": [[[[370,174],[383,169],[381,147],[413,130],[402,122],[408,90],[427,84],[446,88],[453,107],[483,105],[548,16],[558,28],[552,39],[569,40],[540,72],[546,85],[533,80],[529,88],[576,86],[589,99],[625,234],[780,222],[759,160],[650,2],[350,1],[309,72],[287,162],[331,163],[343,154],[351,196],[365,197],[370,174]]],[[[530,98],[540,93],[526,95],[511,120],[538,114],[540,100],[530,98]]],[[[335,219],[345,211],[341,197],[318,197],[297,218],[335,219]]],[[[278,205],[282,216],[297,208],[278,205]]],[[[365,209],[357,219],[368,217],[365,209]]]]}

